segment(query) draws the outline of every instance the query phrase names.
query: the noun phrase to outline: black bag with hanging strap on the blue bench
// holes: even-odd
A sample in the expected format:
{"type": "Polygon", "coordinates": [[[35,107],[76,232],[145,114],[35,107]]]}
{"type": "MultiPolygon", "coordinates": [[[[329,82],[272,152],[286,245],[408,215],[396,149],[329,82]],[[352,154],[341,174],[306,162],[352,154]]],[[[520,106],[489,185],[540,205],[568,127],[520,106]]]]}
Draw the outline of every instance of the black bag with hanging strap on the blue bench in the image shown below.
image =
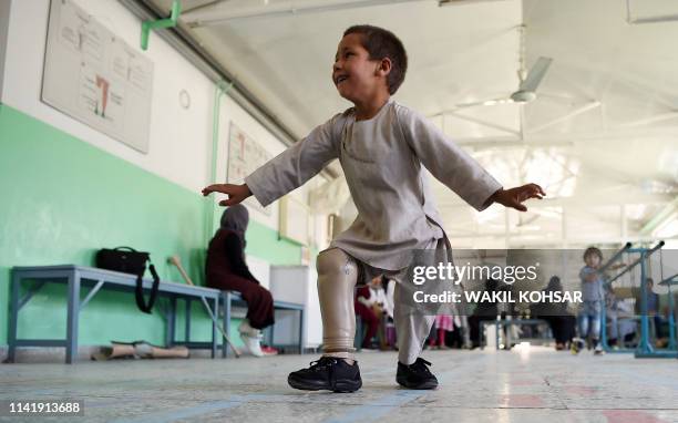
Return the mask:
{"type": "Polygon", "coordinates": [[[148,252],[137,251],[132,247],[116,247],[113,249],[102,248],[96,251],[96,267],[136,276],[136,307],[145,313],[151,313],[153,305],[155,303],[155,298],[157,297],[160,278],[155,271],[155,266],[151,262],[148,252]],[[147,303],[144,300],[143,289],[146,261],[150,264],[148,270],[151,270],[151,275],[153,276],[153,287],[151,288],[151,296],[148,297],[147,303]]]}

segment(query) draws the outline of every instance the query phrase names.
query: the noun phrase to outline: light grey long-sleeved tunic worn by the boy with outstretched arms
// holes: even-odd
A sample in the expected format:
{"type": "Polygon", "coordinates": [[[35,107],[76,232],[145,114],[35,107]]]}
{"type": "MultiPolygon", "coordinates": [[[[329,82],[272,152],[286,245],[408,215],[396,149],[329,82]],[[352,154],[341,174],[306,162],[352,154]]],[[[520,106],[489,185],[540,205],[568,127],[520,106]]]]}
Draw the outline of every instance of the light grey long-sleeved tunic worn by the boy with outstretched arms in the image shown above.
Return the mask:
{"type": "Polygon", "coordinates": [[[502,186],[435,125],[390,100],[367,121],[352,109],[245,178],[266,206],[339,158],[358,209],[330,247],[380,269],[407,267],[414,249],[445,238],[422,165],[477,210],[502,186]]]}

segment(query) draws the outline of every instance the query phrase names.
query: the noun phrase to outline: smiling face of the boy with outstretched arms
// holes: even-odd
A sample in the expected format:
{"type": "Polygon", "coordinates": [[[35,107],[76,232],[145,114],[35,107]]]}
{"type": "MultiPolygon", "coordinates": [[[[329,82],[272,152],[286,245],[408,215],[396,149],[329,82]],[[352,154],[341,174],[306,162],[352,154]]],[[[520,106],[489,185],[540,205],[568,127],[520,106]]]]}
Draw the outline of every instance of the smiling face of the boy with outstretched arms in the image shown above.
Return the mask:
{"type": "Polygon", "coordinates": [[[370,53],[362,47],[361,37],[358,33],[343,37],[332,65],[332,82],[339,95],[353,104],[369,102],[378,90],[388,93],[388,71],[384,74],[383,69],[380,69],[383,61],[370,60],[370,53]]]}

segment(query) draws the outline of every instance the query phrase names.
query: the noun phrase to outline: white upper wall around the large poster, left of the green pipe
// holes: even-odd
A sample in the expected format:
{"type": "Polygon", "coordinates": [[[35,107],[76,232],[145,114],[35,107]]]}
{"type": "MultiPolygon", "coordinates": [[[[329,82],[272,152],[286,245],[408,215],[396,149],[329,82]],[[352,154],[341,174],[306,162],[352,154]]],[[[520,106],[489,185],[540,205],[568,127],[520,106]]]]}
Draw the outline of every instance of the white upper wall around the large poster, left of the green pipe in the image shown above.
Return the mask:
{"type": "MultiPolygon", "coordinates": [[[[78,4],[140,49],[141,21],[117,1],[78,4]]],[[[197,193],[210,171],[212,82],[152,34],[145,53],[154,62],[150,149],[148,154],[132,149],[40,101],[49,7],[49,0],[11,0],[2,103],[197,193]],[[188,110],[179,106],[182,90],[192,97],[188,110]]]]}

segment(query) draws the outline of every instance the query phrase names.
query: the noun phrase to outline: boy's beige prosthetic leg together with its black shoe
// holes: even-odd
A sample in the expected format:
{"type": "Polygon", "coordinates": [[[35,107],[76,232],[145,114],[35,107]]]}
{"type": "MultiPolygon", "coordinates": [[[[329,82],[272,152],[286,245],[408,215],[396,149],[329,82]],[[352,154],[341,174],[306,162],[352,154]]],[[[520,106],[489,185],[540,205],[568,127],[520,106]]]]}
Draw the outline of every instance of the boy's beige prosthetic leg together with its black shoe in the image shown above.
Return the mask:
{"type": "Polygon", "coordinates": [[[325,352],[310,368],[290,373],[287,382],[306,391],[353,392],[362,386],[353,357],[353,288],[358,264],[342,250],[332,248],[320,252],[316,267],[325,352]]]}

